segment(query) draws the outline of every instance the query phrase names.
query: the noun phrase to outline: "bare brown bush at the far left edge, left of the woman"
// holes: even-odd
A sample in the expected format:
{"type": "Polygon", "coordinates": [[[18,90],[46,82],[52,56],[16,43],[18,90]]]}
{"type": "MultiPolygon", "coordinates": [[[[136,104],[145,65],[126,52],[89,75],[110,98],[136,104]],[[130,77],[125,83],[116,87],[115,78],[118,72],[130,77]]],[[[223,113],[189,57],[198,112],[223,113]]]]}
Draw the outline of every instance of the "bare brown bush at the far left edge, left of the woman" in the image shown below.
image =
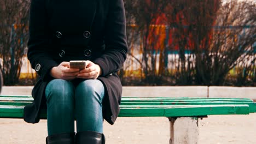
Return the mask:
{"type": "Polygon", "coordinates": [[[29,0],[0,0],[0,69],[5,85],[19,81],[28,40],[29,0]]]}

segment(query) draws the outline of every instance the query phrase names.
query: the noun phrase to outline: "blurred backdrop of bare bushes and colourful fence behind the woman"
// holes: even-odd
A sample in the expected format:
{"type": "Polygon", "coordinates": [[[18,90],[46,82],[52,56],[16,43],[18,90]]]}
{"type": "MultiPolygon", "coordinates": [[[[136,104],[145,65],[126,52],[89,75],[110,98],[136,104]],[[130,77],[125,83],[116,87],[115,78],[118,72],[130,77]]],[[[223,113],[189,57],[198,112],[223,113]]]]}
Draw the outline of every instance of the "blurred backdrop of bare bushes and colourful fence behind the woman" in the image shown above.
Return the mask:
{"type": "MultiPolygon", "coordinates": [[[[256,86],[256,1],[124,0],[124,86],[256,86]]],[[[33,85],[30,0],[0,0],[0,82],[33,85]],[[3,81],[2,81],[3,80],[3,81]]]]}

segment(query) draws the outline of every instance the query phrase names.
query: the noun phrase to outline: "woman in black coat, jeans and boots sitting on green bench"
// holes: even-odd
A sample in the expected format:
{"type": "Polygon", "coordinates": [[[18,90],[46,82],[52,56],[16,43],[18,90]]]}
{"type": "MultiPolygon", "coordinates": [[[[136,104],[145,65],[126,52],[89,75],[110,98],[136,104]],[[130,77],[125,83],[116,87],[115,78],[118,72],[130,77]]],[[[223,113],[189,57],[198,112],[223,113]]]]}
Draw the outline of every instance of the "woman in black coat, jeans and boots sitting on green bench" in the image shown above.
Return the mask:
{"type": "Polygon", "coordinates": [[[126,53],[123,0],[32,0],[27,56],[40,77],[25,121],[39,122],[47,109],[46,143],[104,143],[103,118],[113,124],[119,113],[116,73],[126,53]],[[78,60],[85,68],[71,67],[78,60]]]}

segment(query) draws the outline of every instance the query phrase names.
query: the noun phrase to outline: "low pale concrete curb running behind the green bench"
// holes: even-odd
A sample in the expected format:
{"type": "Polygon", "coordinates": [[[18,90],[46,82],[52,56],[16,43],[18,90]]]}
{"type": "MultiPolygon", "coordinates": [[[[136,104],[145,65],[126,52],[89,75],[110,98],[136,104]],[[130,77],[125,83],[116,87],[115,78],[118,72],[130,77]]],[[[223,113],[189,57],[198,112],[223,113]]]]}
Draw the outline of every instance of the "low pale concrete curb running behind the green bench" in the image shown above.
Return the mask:
{"type": "MultiPolygon", "coordinates": [[[[33,86],[4,86],[2,95],[31,95],[33,86]]],[[[249,98],[256,100],[256,87],[154,86],[123,87],[124,97],[249,98]]]]}

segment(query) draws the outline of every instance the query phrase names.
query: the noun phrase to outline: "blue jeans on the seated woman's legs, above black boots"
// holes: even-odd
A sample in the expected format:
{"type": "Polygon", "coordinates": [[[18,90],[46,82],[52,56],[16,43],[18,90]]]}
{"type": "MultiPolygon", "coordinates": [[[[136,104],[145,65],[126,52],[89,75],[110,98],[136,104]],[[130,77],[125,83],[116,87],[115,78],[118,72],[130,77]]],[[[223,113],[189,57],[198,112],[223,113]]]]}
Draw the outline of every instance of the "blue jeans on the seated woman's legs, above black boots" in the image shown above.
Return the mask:
{"type": "Polygon", "coordinates": [[[54,79],[45,89],[48,135],[77,132],[103,133],[102,99],[104,86],[99,80],[71,81],[54,79]]]}

